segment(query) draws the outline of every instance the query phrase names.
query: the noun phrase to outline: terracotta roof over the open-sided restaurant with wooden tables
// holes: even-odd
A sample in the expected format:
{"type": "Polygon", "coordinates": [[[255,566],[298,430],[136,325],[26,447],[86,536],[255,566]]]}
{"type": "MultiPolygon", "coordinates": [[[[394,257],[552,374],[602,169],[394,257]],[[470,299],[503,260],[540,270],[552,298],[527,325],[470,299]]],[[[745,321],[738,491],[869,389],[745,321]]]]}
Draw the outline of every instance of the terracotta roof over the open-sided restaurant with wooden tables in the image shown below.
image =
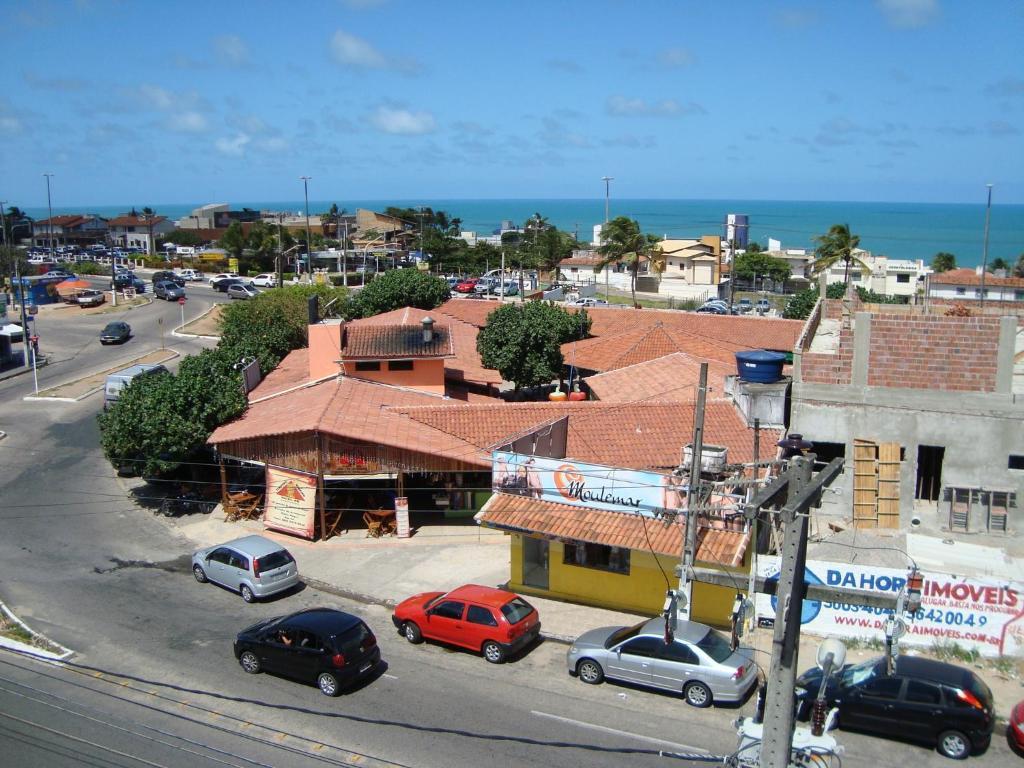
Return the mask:
{"type": "Polygon", "coordinates": [[[456,407],[456,402],[411,389],[338,377],[251,402],[240,418],[214,430],[208,442],[224,445],[238,440],[317,431],[489,467],[489,454],[481,453],[476,445],[391,408],[433,403],[443,410],[446,403],[456,407]]]}

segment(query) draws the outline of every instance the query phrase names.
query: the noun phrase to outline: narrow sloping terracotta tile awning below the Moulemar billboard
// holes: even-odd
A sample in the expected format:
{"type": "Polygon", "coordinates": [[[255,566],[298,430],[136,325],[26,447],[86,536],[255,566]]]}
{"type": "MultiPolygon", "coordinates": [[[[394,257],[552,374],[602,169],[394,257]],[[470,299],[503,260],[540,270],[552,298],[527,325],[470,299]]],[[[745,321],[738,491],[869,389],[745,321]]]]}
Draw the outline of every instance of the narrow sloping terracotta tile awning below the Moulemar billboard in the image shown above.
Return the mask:
{"type": "MultiPolygon", "coordinates": [[[[674,522],[641,515],[554,504],[510,494],[495,494],[476,515],[481,525],[503,530],[537,532],[607,547],[653,551],[681,557],[682,517],[674,522]]],[[[736,567],[742,564],[750,534],[701,526],[696,559],[736,567]]]]}

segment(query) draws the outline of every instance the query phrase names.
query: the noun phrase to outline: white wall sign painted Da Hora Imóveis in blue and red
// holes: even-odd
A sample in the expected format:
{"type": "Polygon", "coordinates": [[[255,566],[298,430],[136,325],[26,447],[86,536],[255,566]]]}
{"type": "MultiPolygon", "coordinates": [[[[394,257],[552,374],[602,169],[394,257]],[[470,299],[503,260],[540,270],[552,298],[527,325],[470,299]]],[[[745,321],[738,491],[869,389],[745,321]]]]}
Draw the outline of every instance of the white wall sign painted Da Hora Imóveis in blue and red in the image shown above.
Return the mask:
{"type": "MultiPolygon", "coordinates": [[[[778,579],[779,558],[758,557],[758,574],[778,579]]],[[[807,584],[824,584],[897,595],[906,570],[871,565],[808,560],[807,584]]],[[[758,622],[771,626],[777,601],[759,594],[758,622]]],[[[885,639],[886,608],[842,602],[804,600],[802,629],[825,637],[885,639]]],[[[991,578],[925,573],[921,609],[907,622],[900,644],[931,646],[957,643],[983,655],[1024,655],[1024,584],[991,578]]]]}

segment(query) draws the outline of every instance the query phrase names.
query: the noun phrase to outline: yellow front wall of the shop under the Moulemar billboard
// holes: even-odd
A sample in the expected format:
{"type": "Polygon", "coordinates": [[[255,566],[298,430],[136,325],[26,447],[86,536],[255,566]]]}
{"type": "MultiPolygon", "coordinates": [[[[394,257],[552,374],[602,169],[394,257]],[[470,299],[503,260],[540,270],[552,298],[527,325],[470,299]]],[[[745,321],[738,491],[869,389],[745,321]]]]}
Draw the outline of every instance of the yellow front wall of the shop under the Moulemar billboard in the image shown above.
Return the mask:
{"type": "MultiPolygon", "coordinates": [[[[522,540],[521,534],[513,534],[511,540],[512,571],[510,589],[523,594],[551,597],[568,602],[596,605],[611,610],[626,610],[647,615],[656,615],[665,605],[668,589],[666,577],[673,589],[679,586],[675,568],[679,560],[666,555],[652,555],[642,550],[630,551],[630,573],[611,573],[596,568],[562,563],[564,546],[561,542],[550,542],[548,551],[548,589],[526,587],[522,583],[522,540]],[[660,563],[662,569],[658,569],[660,563]]],[[[731,570],[731,569],[730,569],[731,570]]],[[[745,568],[736,569],[736,582],[745,589],[745,568]]],[[[693,609],[690,613],[694,622],[724,627],[732,612],[732,602],[736,590],[711,584],[693,585],[693,609]]]]}

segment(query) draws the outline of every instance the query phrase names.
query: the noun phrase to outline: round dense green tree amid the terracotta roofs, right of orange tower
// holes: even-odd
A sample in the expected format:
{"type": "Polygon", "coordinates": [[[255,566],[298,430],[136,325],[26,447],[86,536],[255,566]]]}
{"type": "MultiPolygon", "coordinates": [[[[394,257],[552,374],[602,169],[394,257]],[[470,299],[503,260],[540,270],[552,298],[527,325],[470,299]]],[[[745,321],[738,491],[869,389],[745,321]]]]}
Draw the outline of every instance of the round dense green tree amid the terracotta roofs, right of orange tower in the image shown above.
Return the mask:
{"type": "Polygon", "coordinates": [[[486,368],[519,390],[560,378],[561,344],[589,331],[586,312],[574,315],[543,301],[504,304],[487,315],[476,351],[486,368]]]}

